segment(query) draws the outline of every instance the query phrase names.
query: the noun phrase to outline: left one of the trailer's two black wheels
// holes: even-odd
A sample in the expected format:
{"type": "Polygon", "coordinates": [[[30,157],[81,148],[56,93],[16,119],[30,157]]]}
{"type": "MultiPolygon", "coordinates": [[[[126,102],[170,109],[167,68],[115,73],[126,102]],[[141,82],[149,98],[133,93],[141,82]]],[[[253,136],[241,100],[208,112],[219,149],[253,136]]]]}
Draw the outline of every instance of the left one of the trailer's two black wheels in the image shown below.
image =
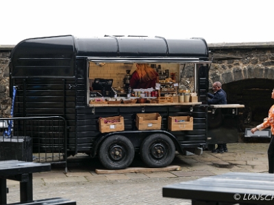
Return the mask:
{"type": "Polygon", "coordinates": [[[123,135],[105,139],[99,149],[99,160],[107,169],[125,169],[134,159],[134,146],[123,135]]]}

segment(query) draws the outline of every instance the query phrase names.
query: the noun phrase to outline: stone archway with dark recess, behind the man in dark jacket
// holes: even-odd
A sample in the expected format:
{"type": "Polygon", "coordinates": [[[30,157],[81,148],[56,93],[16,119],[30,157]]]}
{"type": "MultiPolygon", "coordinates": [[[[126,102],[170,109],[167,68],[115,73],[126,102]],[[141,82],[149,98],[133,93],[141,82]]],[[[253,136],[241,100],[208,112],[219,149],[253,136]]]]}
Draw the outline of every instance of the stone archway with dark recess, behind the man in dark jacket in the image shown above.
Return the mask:
{"type": "Polygon", "coordinates": [[[234,66],[223,70],[223,64],[213,64],[210,69],[209,86],[214,81],[223,84],[227,92],[227,103],[244,104],[243,122],[246,128],[251,128],[262,122],[267,117],[269,108],[274,100],[271,92],[274,88],[273,61],[256,64],[242,65],[242,61],[234,61],[234,66]],[[220,69],[221,68],[221,69],[220,69]]]}

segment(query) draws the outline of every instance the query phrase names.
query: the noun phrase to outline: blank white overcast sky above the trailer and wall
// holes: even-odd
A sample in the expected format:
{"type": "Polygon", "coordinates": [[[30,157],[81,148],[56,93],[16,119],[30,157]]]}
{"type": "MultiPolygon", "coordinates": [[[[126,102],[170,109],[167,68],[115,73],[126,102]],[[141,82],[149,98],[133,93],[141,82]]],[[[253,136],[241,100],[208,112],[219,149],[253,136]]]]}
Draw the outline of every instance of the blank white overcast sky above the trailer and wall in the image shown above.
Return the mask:
{"type": "Polygon", "coordinates": [[[274,42],[273,0],[0,0],[0,44],[73,35],[274,42]]]}

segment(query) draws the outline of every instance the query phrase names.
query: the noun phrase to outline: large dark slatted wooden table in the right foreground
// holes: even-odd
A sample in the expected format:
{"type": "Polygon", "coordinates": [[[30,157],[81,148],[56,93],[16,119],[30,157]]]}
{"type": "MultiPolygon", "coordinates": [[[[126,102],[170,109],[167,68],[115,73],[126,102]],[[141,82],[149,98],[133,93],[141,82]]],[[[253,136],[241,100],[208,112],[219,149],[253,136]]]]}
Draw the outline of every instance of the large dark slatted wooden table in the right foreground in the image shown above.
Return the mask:
{"type": "Polygon", "coordinates": [[[274,174],[231,172],[167,185],[163,197],[192,204],[274,204],[274,174]]]}

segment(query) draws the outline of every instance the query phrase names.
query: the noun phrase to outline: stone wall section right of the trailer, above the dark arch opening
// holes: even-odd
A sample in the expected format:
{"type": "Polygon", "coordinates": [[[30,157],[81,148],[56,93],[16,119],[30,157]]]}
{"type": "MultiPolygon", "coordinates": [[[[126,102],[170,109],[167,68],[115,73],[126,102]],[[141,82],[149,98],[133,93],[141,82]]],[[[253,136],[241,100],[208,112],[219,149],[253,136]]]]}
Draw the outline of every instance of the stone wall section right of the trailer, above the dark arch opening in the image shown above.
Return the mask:
{"type": "MultiPolygon", "coordinates": [[[[214,54],[234,55],[241,59],[214,61],[210,67],[210,85],[214,81],[231,83],[245,79],[274,79],[273,44],[215,44],[210,50],[214,54]]],[[[213,55],[214,57],[214,55],[213,55]]]]}

